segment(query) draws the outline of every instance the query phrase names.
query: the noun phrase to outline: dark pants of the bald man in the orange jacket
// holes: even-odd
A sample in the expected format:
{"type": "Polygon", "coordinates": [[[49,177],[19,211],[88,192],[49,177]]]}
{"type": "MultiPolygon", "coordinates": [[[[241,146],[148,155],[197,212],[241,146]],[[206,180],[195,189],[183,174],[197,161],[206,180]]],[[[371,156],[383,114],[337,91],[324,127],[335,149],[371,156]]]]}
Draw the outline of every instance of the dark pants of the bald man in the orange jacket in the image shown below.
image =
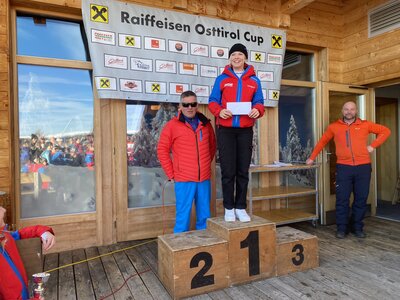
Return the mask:
{"type": "Polygon", "coordinates": [[[362,231],[367,211],[371,164],[348,166],[336,165],[336,225],[337,230],[362,231]],[[349,224],[350,194],[354,194],[349,224]]]}

